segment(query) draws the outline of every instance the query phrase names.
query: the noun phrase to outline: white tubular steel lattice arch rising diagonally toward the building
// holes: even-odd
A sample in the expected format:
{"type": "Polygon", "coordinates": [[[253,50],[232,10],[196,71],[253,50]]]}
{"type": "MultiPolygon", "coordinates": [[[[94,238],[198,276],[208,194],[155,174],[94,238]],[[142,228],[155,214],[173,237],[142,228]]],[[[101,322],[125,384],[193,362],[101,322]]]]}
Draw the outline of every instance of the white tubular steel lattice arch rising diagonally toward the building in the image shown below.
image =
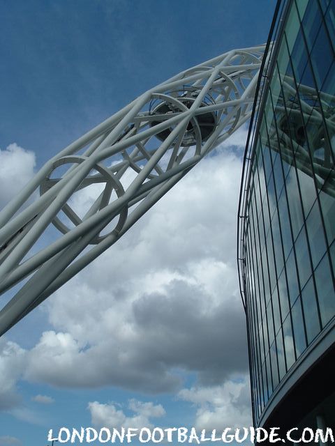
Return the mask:
{"type": "Polygon", "coordinates": [[[234,49],[147,91],[52,157],[8,203],[0,213],[0,293],[21,288],[0,311],[0,334],[250,118],[264,51],[234,49]],[[78,215],[76,194],[97,185],[94,202],[78,215]],[[52,238],[46,247],[43,237],[52,238]]]}

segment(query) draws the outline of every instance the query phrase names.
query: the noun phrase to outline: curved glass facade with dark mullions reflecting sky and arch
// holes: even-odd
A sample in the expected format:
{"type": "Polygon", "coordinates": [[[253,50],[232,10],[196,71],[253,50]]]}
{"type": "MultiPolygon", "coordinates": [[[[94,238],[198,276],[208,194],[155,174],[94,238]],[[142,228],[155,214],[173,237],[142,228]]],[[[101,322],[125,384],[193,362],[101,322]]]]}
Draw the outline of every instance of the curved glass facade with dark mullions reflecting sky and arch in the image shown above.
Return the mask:
{"type": "Polygon", "coordinates": [[[256,423],[335,319],[335,0],[286,3],[240,208],[256,423]]]}

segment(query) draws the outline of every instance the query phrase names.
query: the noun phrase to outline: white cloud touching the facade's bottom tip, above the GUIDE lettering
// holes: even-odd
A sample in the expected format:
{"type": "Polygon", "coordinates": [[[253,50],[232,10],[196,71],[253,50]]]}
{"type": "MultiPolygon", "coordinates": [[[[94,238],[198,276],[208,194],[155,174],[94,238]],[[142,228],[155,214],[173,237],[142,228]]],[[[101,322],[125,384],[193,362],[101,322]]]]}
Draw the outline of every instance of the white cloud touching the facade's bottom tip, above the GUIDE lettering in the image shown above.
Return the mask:
{"type": "Polygon", "coordinates": [[[222,430],[252,426],[250,387],[247,376],[239,380],[228,380],[213,387],[191,387],[182,389],[180,399],[190,401],[197,408],[195,427],[197,429],[222,430]]]}

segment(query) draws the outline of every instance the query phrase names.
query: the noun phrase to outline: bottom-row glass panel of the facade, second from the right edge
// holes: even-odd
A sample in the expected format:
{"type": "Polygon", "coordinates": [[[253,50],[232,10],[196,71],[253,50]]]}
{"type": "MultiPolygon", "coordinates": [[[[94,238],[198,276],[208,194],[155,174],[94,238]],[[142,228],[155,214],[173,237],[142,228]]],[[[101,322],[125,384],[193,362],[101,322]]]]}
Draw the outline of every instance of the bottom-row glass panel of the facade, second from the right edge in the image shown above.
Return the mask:
{"type": "Polygon", "coordinates": [[[316,305],[315,291],[312,278],[301,291],[302,307],[304,308],[304,316],[306,321],[306,334],[308,344],[320,332],[320,322],[318,316],[318,307],[316,305]]]}

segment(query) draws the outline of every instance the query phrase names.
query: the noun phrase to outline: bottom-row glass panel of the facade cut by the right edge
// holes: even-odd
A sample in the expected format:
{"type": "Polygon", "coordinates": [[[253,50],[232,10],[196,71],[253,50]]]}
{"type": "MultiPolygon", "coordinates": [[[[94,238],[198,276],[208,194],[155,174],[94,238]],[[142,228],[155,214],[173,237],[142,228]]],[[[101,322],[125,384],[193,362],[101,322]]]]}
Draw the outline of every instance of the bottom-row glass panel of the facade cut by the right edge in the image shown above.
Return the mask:
{"type": "Polygon", "coordinates": [[[322,326],[325,327],[335,315],[335,293],[327,255],[315,270],[315,285],[318,293],[321,322],[322,326]]]}

